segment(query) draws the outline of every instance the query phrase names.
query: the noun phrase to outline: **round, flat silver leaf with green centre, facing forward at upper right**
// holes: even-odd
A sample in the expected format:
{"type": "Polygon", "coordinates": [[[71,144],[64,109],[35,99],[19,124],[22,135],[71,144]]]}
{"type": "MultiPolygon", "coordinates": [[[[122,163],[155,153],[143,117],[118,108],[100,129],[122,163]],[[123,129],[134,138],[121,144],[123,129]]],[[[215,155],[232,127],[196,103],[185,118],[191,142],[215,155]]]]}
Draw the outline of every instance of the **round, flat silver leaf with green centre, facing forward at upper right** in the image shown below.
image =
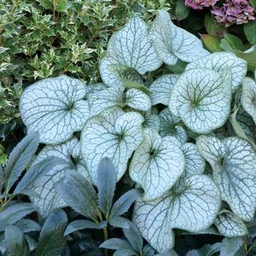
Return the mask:
{"type": "Polygon", "coordinates": [[[169,108],[191,131],[208,133],[224,125],[230,102],[230,73],[223,78],[210,69],[193,69],[174,84],[169,108]]]}

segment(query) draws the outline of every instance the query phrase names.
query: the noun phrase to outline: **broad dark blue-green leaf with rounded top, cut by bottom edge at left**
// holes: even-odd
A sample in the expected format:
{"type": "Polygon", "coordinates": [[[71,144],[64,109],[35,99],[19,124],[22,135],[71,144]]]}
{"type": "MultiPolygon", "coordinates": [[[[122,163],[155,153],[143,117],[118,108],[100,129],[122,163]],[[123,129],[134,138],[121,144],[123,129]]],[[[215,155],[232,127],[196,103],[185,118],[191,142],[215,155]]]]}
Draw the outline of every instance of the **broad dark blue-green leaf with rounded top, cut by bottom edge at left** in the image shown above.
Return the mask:
{"type": "Polygon", "coordinates": [[[67,215],[61,210],[49,214],[40,233],[35,256],[61,255],[66,239],[64,231],[67,226],[67,215]]]}

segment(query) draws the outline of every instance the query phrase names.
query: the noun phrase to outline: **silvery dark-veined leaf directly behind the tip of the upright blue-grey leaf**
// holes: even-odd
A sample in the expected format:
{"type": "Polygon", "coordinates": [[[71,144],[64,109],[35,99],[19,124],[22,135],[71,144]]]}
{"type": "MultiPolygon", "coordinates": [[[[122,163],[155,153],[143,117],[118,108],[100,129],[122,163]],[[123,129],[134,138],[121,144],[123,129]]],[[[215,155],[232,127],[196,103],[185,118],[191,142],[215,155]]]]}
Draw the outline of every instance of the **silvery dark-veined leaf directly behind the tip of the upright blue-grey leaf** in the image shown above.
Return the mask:
{"type": "Polygon", "coordinates": [[[125,173],[127,161],[143,141],[143,116],[125,113],[120,108],[108,108],[91,117],[82,132],[82,154],[93,182],[103,157],[113,162],[118,179],[125,173]]]}

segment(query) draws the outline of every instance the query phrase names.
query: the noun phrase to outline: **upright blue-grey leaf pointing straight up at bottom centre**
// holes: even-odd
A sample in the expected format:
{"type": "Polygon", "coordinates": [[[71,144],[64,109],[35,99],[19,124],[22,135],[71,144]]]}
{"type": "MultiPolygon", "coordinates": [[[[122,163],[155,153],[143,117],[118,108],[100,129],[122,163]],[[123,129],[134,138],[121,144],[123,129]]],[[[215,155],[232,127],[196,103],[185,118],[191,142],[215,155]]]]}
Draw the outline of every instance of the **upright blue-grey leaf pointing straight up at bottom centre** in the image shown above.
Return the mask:
{"type": "Polygon", "coordinates": [[[107,218],[112,207],[115,183],[117,183],[117,177],[111,160],[102,158],[98,167],[96,185],[99,208],[107,218]]]}

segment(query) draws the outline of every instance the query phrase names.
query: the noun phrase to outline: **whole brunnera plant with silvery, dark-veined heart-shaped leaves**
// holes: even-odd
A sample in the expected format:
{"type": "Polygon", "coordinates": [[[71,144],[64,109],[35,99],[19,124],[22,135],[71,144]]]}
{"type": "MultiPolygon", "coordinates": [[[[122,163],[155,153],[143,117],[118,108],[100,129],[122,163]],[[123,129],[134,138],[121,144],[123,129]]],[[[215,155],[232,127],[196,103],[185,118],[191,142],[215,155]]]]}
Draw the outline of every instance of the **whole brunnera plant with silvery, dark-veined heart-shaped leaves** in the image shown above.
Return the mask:
{"type": "Polygon", "coordinates": [[[34,164],[66,160],[31,186],[41,215],[67,206],[55,190],[67,172],[96,184],[108,157],[117,180],[128,172],[143,189],[132,221],[159,253],[174,246],[175,229],[245,236],[256,207],[256,84],[245,78],[247,62],[210,54],[160,10],[149,26],[134,15],[113,34],[100,72],[100,84],[61,75],[20,98],[28,133],[46,144],[34,164]],[[148,80],[178,60],[187,62],[183,73],[148,80]]]}

